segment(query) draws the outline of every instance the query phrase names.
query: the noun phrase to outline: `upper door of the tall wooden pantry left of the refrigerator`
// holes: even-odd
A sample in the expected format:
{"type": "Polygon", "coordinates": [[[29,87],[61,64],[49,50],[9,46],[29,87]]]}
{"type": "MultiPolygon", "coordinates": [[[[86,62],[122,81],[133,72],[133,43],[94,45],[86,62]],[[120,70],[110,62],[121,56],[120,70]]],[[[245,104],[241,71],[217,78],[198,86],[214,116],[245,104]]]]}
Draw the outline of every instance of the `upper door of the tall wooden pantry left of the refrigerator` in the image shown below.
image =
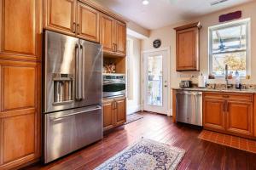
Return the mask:
{"type": "Polygon", "coordinates": [[[36,59],[39,25],[38,0],[0,2],[0,56],[36,59]]]}

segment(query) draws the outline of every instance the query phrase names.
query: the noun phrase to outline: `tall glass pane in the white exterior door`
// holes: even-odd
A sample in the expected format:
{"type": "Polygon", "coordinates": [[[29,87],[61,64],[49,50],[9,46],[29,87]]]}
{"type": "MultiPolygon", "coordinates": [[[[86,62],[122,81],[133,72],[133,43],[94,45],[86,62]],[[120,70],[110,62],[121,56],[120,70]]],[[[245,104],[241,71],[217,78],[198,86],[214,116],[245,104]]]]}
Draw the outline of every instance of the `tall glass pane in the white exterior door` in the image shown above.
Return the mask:
{"type": "Polygon", "coordinates": [[[163,105],[162,56],[148,57],[148,105],[163,105]]]}

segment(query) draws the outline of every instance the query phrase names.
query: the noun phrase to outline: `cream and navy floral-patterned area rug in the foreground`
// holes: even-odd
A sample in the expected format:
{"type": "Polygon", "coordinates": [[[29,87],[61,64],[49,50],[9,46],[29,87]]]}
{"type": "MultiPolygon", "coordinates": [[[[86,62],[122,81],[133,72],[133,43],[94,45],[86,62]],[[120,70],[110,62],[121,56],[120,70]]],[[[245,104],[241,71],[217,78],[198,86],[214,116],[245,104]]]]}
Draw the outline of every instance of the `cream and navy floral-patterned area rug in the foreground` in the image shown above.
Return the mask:
{"type": "Polygon", "coordinates": [[[172,170],[177,168],[184,154],[185,150],[142,139],[96,167],[96,170],[172,170]]]}

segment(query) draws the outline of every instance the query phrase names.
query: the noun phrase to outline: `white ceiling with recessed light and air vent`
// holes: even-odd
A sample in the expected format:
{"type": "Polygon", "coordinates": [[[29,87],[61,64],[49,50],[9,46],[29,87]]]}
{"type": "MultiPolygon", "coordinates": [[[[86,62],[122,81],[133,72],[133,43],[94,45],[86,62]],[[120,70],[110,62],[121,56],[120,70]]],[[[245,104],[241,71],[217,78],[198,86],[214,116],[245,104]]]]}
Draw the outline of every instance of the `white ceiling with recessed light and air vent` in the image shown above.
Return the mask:
{"type": "Polygon", "coordinates": [[[153,30],[253,0],[229,0],[215,6],[210,3],[216,0],[148,0],[149,4],[146,6],[142,4],[142,0],[95,1],[138,25],[153,30]]]}

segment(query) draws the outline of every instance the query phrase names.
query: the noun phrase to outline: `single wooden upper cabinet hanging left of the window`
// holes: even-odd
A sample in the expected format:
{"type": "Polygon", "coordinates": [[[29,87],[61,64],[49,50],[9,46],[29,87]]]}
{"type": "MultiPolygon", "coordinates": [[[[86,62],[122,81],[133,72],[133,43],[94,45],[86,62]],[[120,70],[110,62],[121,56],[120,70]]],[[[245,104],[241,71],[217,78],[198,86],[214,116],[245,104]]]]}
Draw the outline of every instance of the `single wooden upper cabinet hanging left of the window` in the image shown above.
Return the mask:
{"type": "Polygon", "coordinates": [[[199,71],[199,22],[174,28],[176,32],[176,71],[199,71]]]}

